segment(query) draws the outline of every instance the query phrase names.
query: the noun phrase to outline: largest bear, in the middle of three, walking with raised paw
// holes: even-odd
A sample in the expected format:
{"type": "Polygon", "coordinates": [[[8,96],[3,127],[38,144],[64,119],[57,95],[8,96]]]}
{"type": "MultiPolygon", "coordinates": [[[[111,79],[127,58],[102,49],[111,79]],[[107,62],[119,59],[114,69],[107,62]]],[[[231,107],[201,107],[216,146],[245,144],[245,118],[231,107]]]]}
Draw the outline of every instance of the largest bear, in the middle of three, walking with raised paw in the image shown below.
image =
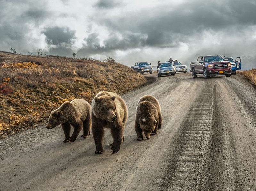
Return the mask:
{"type": "Polygon", "coordinates": [[[95,154],[102,154],[104,127],[110,128],[113,137],[111,154],[117,153],[124,140],[124,126],[128,110],[124,100],[114,92],[99,92],[92,100],[92,134],[96,145],[95,154]]]}

